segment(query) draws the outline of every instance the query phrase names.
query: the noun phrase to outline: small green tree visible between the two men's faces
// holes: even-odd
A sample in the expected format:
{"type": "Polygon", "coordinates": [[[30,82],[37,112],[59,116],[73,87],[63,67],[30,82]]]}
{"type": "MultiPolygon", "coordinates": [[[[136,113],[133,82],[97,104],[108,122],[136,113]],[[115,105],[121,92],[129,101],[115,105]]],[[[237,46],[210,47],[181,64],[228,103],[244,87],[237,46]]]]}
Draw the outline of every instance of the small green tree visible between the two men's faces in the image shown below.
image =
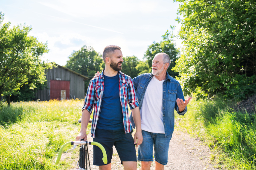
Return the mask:
{"type": "Polygon", "coordinates": [[[127,57],[123,57],[123,59],[124,59],[124,61],[122,62],[122,72],[124,74],[129,75],[132,79],[134,77],[137,77],[139,75],[139,72],[138,72],[136,66],[140,62],[138,57],[127,56],[127,57]]]}

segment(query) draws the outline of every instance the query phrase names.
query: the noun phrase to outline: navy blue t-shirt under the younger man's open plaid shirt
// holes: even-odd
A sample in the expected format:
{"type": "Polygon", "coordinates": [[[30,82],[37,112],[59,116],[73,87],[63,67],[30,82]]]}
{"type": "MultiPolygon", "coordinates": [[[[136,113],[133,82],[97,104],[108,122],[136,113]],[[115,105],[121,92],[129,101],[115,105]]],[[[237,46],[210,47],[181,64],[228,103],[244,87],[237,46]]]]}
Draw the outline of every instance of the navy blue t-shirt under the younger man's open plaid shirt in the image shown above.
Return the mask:
{"type": "Polygon", "coordinates": [[[105,130],[124,129],[122,105],[119,96],[119,75],[108,77],[104,75],[104,91],[102,108],[97,127],[105,130]]]}

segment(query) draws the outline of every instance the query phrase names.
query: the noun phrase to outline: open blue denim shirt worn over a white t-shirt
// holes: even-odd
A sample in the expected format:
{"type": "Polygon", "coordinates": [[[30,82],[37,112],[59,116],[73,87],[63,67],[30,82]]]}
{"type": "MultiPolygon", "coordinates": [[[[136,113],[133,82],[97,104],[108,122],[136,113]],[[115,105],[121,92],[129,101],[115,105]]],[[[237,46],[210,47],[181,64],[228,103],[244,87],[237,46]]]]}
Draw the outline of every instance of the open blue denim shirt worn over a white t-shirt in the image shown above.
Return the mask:
{"type": "MultiPolygon", "coordinates": [[[[180,83],[176,79],[169,76],[167,71],[166,74],[166,79],[163,82],[163,126],[165,136],[169,137],[172,135],[174,129],[174,109],[177,111],[178,114],[184,115],[187,112],[187,107],[183,112],[179,112],[176,99],[180,98],[183,99],[183,101],[185,101],[184,95],[180,87],[180,83]]],[[[143,99],[145,96],[146,89],[148,87],[148,83],[151,81],[152,76],[153,75],[151,73],[145,73],[140,74],[139,76],[134,77],[133,79],[136,96],[140,103],[140,109],[143,104],[143,99]]],[[[133,128],[135,128],[135,123],[132,118],[132,114],[130,116],[130,120],[133,128]]]]}

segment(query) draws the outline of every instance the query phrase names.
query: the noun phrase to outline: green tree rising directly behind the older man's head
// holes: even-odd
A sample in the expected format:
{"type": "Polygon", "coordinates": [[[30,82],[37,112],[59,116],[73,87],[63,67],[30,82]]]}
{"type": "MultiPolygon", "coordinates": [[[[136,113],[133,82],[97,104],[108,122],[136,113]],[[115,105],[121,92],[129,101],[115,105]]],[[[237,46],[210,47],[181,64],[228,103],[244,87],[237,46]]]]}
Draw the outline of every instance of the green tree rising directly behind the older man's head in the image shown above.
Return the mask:
{"type": "MultiPolygon", "coordinates": [[[[167,30],[168,33],[168,30],[167,30]]],[[[179,50],[175,48],[175,44],[172,40],[168,39],[168,35],[163,35],[164,40],[160,42],[153,42],[153,44],[148,46],[147,51],[145,52],[144,58],[148,60],[148,65],[152,65],[152,60],[157,53],[166,53],[169,55],[171,59],[171,64],[167,69],[167,72],[172,77],[177,77],[178,73],[172,71],[172,68],[176,64],[176,60],[178,59],[179,50]]],[[[151,68],[151,67],[150,67],[151,68]]],[[[149,71],[151,72],[151,71],[149,71]]]]}

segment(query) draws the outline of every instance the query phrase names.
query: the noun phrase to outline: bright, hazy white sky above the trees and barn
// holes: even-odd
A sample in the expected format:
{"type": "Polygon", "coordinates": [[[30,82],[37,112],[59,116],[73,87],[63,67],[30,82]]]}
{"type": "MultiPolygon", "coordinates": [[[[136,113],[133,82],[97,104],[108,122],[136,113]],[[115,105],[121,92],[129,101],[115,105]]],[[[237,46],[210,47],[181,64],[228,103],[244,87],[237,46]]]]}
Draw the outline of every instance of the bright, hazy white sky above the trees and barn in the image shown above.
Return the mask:
{"type": "MultiPolygon", "coordinates": [[[[173,0],[0,0],[4,22],[31,26],[29,35],[47,42],[42,59],[59,65],[84,45],[101,54],[105,46],[118,45],[123,56],[143,59],[170,25],[177,34],[178,6],[173,0]]],[[[181,46],[181,40],[175,43],[181,46]]]]}

